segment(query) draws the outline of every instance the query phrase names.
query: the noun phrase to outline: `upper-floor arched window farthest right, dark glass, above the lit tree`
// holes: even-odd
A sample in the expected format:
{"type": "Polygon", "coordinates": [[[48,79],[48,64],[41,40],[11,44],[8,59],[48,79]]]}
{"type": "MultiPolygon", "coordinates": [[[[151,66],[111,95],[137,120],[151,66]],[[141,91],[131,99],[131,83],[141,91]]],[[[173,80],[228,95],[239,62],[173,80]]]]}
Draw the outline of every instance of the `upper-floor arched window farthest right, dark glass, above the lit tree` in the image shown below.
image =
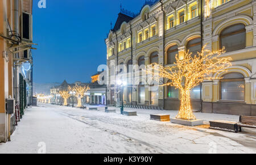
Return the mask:
{"type": "Polygon", "coordinates": [[[220,35],[220,46],[225,46],[226,52],[241,50],[246,47],[246,30],[244,24],[227,27],[220,35]]]}

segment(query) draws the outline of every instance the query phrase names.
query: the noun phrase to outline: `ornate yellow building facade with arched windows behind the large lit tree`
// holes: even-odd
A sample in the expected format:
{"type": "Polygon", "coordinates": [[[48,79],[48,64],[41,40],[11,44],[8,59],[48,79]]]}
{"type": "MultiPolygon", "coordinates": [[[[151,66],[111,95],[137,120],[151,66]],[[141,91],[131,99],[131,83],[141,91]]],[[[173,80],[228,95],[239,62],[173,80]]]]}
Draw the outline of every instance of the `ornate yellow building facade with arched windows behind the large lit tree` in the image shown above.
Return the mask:
{"type": "MultiPolygon", "coordinates": [[[[184,52],[200,52],[203,45],[209,50],[225,46],[222,57],[232,57],[232,67],[227,73],[212,75],[223,77],[220,81],[205,81],[193,88],[192,108],[256,116],[255,11],[253,0],[163,0],[147,2],[137,15],[122,10],[105,40],[108,104],[118,105],[117,82],[125,70],[125,104],[178,110],[180,92],[171,86],[155,89],[154,82],[141,74],[141,67],[172,66],[176,54],[182,59],[184,52]]],[[[160,79],[157,83],[167,82],[160,79]]]]}

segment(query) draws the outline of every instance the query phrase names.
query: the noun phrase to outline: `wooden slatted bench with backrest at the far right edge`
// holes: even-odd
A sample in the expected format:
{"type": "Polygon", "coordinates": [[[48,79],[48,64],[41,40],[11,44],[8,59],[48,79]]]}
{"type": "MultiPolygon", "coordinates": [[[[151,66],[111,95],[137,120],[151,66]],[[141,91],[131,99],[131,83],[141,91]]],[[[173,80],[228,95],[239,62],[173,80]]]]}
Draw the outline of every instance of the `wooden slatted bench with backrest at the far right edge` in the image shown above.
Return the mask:
{"type": "Polygon", "coordinates": [[[256,117],[240,116],[239,123],[237,123],[236,132],[242,132],[242,127],[256,128],[256,117]]]}

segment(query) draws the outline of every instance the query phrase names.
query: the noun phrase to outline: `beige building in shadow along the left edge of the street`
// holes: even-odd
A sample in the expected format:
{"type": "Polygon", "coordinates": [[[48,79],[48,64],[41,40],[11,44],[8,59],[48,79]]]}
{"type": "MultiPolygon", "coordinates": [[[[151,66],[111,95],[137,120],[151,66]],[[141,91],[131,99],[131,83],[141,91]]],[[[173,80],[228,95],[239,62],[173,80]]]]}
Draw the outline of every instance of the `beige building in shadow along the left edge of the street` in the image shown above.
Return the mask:
{"type": "Polygon", "coordinates": [[[0,142],[10,140],[15,128],[15,113],[6,114],[6,99],[20,104],[20,116],[32,103],[32,45],[32,0],[1,0],[0,142]]]}

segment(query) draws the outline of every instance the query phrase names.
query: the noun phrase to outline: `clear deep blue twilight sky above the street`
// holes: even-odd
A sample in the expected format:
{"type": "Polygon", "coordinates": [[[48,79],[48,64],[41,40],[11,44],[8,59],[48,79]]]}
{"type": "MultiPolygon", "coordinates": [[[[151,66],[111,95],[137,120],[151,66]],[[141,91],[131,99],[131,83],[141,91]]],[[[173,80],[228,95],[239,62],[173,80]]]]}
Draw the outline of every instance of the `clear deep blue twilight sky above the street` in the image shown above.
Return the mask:
{"type": "Polygon", "coordinates": [[[34,0],[34,82],[89,82],[97,66],[106,64],[106,33],[120,5],[139,12],[144,0],[34,0]]]}

